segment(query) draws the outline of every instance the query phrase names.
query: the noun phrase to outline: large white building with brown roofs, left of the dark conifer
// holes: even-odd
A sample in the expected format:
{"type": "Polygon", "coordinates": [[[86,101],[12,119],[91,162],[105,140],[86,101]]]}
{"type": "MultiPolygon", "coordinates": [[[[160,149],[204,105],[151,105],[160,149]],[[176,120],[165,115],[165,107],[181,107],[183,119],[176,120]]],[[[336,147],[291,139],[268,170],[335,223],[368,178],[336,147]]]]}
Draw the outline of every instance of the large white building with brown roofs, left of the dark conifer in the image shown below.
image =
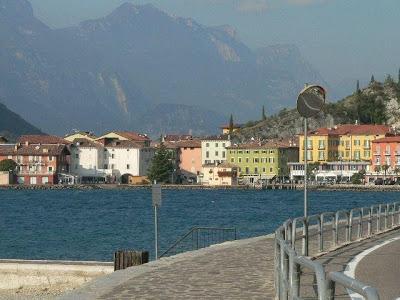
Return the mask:
{"type": "Polygon", "coordinates": [[[147,176],[154,149],[129,140],[76,139],[71,147],[71,173],[79,183],[130,183],[147,176]]]}

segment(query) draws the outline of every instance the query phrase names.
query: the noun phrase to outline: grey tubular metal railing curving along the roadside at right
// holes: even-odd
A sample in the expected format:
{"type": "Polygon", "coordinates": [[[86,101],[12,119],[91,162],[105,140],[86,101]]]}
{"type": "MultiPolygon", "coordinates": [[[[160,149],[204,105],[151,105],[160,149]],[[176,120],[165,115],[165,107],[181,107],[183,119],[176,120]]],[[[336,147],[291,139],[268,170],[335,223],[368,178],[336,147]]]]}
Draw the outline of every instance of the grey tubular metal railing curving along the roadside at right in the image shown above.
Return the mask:
{"type": "Polygon", "coordinates": [[[276,299],[314,297],[331,300],[335,299],[337,286],[366,299],[379,299],[375,288],[341,272],[327,273],[313,257],[399,225],[400,202],[287,220],[275,232],[276,299]],[[301,276],[310,275],[313,278],[311,284],[300,280],[301,276]]]}

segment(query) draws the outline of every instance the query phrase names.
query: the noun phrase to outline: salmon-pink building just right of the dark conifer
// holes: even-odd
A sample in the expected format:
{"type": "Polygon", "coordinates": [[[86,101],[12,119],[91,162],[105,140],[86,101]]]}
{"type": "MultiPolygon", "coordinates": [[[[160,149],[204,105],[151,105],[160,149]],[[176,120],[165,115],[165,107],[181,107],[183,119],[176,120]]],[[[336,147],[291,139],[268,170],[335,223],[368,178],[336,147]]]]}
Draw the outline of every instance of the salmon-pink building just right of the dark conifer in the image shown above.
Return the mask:
{"type": "Polygon", "coordinates": [[[175,143],[178,149],[179,169],[184,180],[196,182],[201,172],[201,141],[182,140],[175,143]]]}

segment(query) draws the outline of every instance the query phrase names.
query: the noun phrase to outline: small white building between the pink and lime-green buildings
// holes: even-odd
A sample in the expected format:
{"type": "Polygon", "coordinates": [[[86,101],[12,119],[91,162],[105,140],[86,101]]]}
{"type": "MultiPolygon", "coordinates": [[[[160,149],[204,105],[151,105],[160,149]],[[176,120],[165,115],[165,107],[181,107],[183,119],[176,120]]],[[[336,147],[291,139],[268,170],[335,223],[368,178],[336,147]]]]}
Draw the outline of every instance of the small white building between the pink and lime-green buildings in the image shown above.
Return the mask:
{"type": "Polygon", "coordinates": [[[226,147],[231,145],[228,136],[208,137],[201,140],[201,164],[215,164],[226,161],[226,147]]]}

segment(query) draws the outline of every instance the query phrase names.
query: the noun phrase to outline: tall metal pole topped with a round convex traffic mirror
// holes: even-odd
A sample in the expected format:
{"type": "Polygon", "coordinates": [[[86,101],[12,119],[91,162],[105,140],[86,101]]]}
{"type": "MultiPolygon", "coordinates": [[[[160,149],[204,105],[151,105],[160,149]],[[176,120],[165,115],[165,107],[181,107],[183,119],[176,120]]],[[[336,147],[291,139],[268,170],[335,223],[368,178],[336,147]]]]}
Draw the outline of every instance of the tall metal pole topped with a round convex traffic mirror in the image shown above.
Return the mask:
{"type": "MultiPolygon", "coordinates": [[[[325,105],[326,92],[319,85],[306,85],[297,98],[297,111],[304,118],[304,218],[308,216],[307,197],[307,119],[317,115],[325,105]]],[[[308,249],[308,236],[306,236],[308,249]]],[[[306,254],[308,255],[308,253],[306,254]]]]}

